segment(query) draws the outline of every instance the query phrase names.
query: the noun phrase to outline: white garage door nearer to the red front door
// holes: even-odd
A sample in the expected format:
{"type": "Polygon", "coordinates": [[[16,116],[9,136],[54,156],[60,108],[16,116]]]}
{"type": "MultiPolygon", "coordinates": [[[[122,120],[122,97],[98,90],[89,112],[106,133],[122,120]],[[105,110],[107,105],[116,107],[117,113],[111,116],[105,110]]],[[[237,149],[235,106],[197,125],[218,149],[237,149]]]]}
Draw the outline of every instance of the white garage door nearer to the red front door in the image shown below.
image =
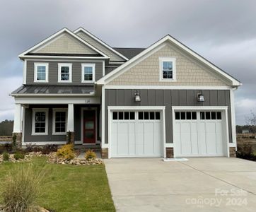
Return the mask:
{"type": "Polygon", "coordinates": [[[163,118],[160,111],[111,112],[111,157],[161,157],[163,118]]]}

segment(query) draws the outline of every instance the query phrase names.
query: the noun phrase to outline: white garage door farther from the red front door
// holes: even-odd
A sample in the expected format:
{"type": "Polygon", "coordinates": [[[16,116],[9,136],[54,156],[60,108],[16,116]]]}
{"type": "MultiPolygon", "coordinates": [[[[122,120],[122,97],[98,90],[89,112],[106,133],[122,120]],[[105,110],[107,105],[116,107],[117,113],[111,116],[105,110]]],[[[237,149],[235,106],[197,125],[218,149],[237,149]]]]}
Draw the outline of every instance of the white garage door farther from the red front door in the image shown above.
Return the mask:
{"type": "Polygon", "coordinates": [[[175,156],[226,155],[223,113],[216,111],[175,112],[175,156]]]}

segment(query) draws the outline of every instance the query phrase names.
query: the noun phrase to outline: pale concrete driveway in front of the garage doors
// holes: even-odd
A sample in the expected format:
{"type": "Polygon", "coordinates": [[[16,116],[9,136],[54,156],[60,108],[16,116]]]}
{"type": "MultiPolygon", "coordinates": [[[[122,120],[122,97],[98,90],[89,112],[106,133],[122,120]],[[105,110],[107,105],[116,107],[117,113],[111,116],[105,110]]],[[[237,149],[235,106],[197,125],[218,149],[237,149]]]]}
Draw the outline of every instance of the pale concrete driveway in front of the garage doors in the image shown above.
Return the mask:
{"type": "Polygon", "coordinates": [[[256,163],[238,158],[105,160],[117,211],[255,211],[256,163]]]}

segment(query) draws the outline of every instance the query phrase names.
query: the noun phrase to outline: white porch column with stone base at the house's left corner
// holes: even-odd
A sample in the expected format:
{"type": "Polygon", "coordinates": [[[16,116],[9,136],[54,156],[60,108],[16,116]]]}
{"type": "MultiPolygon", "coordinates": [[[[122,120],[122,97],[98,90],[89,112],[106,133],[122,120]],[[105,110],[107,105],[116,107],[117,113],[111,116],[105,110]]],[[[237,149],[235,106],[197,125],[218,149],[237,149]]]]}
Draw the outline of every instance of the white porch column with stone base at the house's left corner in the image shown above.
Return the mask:
{"type": "Polygon", "coordinates": [[[22,145],[22,122],[21,122],[21,104],[15,104],[14,122],[13,122],[13,140],[16,140],[16,146],[22,145]]]}

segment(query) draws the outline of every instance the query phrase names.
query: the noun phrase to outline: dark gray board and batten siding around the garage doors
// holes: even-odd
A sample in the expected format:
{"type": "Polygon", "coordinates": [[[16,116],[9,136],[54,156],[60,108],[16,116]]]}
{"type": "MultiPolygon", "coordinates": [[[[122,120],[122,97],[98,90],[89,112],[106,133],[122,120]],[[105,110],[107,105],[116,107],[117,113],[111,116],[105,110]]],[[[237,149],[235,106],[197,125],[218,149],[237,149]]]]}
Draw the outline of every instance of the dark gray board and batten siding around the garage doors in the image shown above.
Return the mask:
{"type": "Polygon", "coordinates": [[[165,106],[166,143],[173,143],[172,106],[228,106],[229,142],[232,143],[230,90],[105,90],[105,143],[108,143],[107,106],[165,106]],[[134,102],[136,90],[141,102],[134,102]],[[197,93],[204,94],[205,101],[197,102],[197,93]]]}

